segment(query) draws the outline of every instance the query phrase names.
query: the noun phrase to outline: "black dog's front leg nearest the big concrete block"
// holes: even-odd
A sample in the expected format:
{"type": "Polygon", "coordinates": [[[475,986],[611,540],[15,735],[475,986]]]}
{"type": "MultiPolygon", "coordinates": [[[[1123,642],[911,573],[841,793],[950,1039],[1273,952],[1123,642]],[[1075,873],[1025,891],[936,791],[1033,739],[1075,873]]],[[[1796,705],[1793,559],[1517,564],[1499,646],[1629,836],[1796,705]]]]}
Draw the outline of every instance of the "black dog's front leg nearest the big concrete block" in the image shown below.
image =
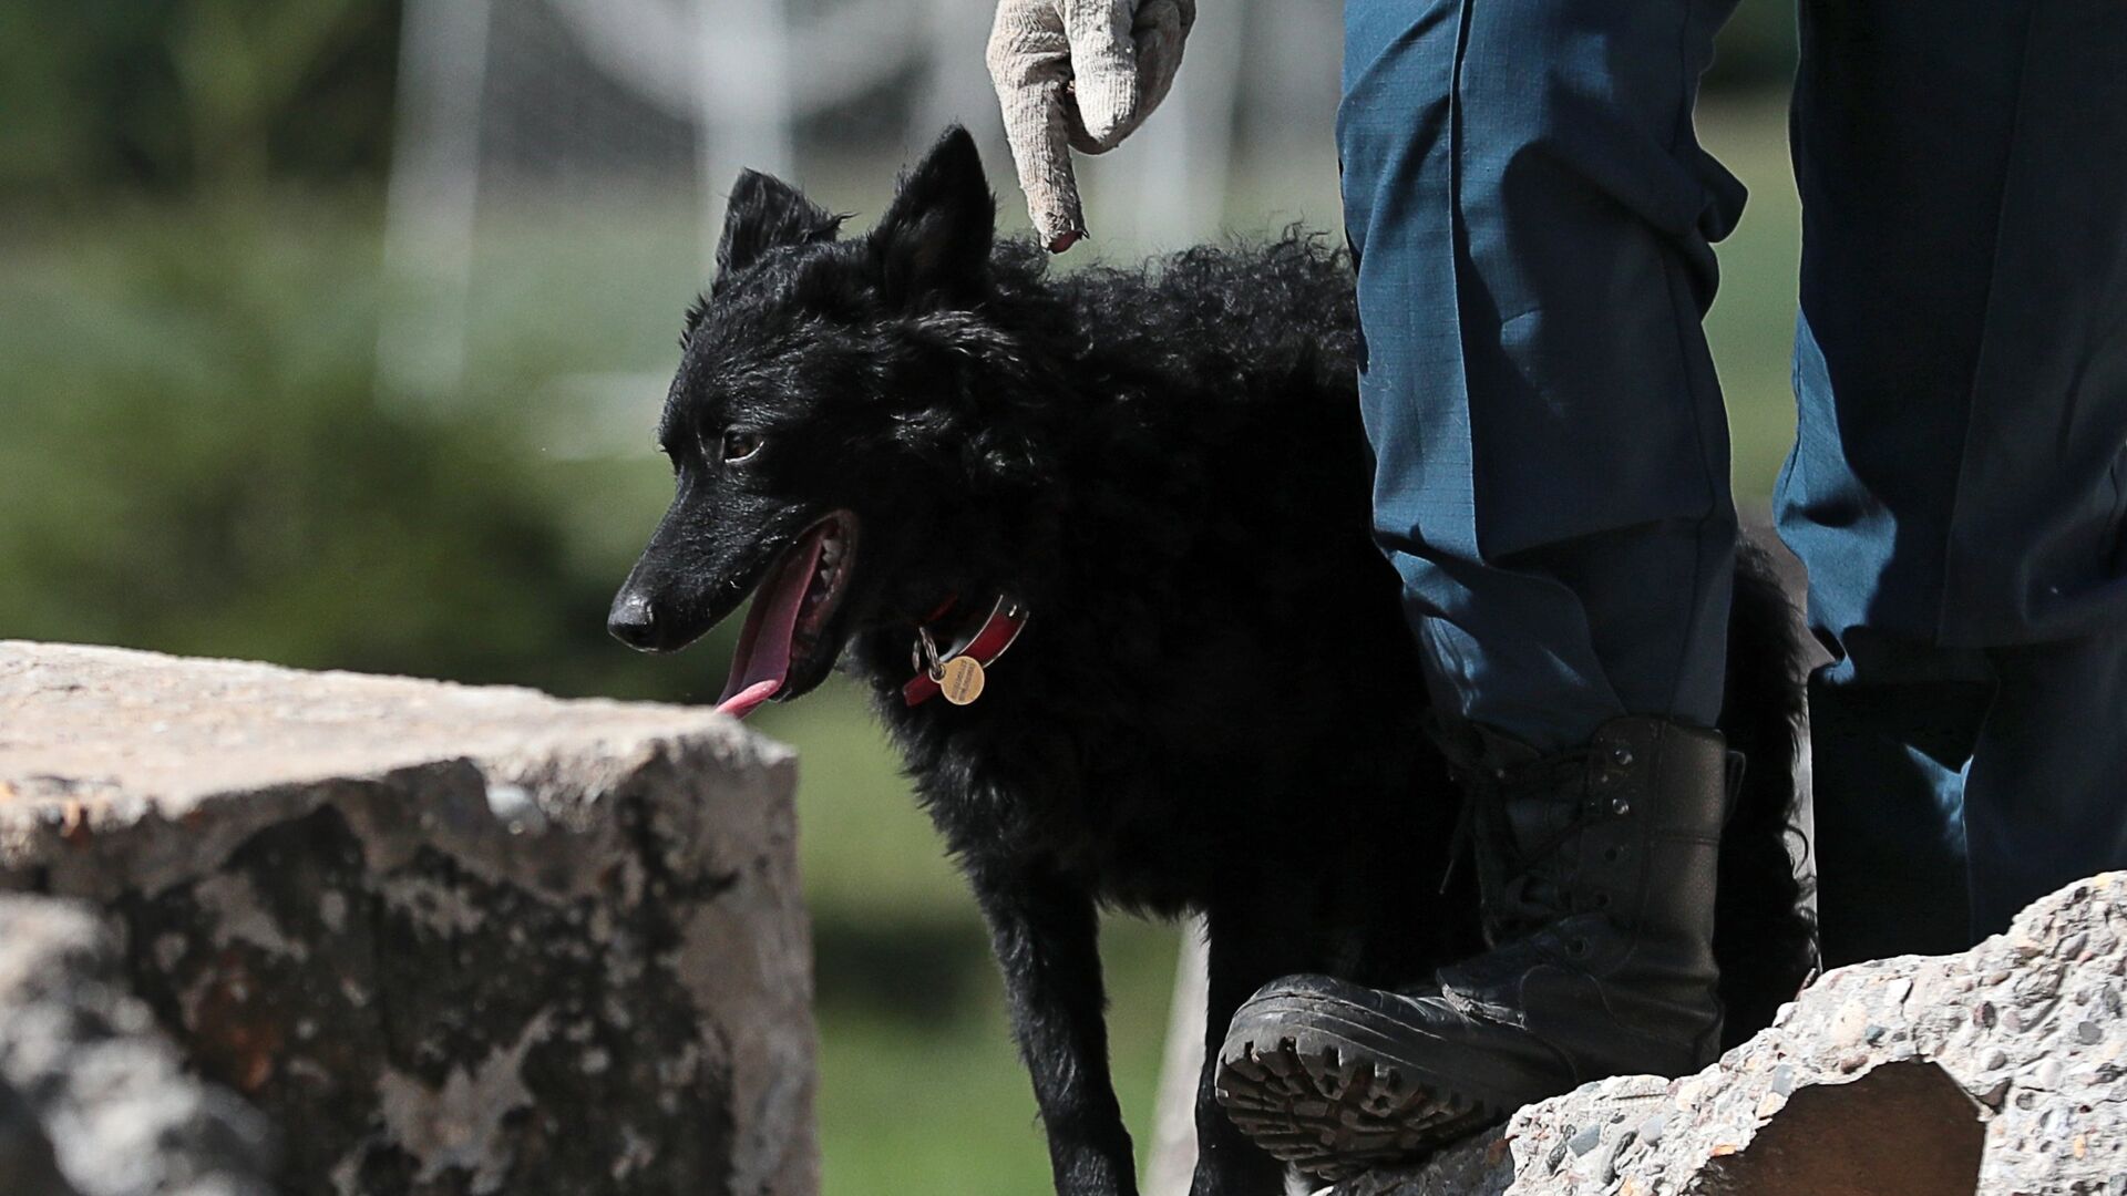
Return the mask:
{"type": "Polygon", "coordinates": [[[1108,1083],[1093,898],[1046,868],[985,870],[974,896],[1004,968],[1019,1053],[1049,1130],[1059,1196],[1136,1196],[1129,1130],[1108,1083]]]}

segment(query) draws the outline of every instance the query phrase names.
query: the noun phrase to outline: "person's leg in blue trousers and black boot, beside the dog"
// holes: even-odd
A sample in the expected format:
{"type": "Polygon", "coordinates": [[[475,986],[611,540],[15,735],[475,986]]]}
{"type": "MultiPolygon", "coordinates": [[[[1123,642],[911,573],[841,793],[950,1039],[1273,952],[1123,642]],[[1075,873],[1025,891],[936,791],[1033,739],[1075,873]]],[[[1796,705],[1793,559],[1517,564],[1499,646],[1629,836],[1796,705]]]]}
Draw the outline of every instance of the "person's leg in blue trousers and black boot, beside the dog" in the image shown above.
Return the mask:
{"type": "Polygon", "coordinates": [[[1217,1092],[1278,1158],[1387,1162],[1719,1043],[1736,513],[1699,317],[1742,189],[1691,106],[1729,9],[1346,2],[1374,528],[1457,741],[1493,949],[1414,992],[1259,990],[1217,1092]],[[1359,1107],[1351,1075],[1400,1096],[1359,1107]]]}

